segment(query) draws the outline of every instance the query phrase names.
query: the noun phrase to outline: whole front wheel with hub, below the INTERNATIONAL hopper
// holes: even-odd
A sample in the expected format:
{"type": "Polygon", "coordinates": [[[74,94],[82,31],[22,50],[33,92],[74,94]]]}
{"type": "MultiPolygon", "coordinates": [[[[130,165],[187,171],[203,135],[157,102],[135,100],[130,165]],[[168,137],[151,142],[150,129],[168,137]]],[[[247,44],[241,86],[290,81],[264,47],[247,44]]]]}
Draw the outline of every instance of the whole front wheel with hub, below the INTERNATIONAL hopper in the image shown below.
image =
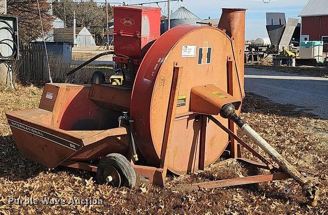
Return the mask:
{"type": "Polygon", "coordinates": [[[132,164],[126,157],[112,153],[99,161],[97,180],[98,184],[109,183],[113,187],[133,188],[136,184],[136,175],[132,164]]]}

